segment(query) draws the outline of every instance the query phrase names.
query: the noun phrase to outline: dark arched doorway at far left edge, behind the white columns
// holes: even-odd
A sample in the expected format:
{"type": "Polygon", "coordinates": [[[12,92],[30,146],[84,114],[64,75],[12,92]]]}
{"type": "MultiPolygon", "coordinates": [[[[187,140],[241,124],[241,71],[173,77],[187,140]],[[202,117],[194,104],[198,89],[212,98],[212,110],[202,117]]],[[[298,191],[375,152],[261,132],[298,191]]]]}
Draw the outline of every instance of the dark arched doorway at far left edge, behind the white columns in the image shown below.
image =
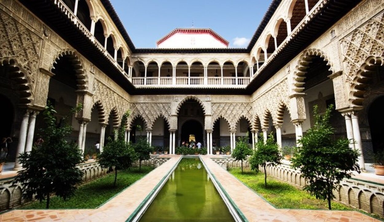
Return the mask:
{"type": "Polygon", "coordinates": [[[11,101],[2,94],[0,94],[0,104],[5,108],[2,113],[2,127],[0,127],[0,138],[3,138],[11,136],[14,109],[11,101]]]}

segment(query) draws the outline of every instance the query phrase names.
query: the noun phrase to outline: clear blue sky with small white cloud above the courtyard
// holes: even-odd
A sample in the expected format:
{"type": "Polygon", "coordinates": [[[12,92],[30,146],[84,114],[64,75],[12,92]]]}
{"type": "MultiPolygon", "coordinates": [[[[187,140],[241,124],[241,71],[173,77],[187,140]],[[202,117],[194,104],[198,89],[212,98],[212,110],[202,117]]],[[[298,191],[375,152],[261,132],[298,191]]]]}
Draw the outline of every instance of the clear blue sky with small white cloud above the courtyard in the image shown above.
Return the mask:
{"type": "Polygon", "coordinates": [[[175,28],[211,28],[230,43],[247,47],[271,0],[110,0],[136,48],[156,48],[175,28]]]}

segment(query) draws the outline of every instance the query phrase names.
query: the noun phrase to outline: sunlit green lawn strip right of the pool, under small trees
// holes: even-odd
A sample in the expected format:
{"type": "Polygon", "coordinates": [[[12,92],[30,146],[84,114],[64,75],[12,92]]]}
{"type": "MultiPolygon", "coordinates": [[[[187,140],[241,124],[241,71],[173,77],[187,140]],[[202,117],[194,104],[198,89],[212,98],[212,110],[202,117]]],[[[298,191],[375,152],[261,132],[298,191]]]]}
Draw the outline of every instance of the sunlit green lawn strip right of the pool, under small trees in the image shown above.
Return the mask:
{"type": "MultiPolygon", "coordinates": [[[[245,168],[244,174],[242,174],[240,167],[230,168],[228,171],[277,208],[328,209],[328,202],[326,202],[326,200],[318,200],[314,196],[311,196],[308,192],[286,182],[274,179],[268,175],[267,188],[265,188],[264,173],[262,172],[255,174],[255,171],[245,168]]],[[[331,206],[332,210],[356,210],[334,201],[331,202],[331,206]]],[[[383,219],[378,215],[369,215],[380,220],[383,219]]]]}

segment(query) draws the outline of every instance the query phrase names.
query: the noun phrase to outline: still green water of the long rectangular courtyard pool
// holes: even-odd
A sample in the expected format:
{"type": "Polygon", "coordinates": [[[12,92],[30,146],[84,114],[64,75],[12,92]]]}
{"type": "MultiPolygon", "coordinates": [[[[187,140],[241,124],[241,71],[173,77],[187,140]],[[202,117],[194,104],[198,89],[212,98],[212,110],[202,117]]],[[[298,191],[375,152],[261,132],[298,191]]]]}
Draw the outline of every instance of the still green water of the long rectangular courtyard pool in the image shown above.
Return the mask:
{"type": "Polygon", "coordinates": [[[202,162],[184,158],[140,221],[234,221],[202,162]]]}

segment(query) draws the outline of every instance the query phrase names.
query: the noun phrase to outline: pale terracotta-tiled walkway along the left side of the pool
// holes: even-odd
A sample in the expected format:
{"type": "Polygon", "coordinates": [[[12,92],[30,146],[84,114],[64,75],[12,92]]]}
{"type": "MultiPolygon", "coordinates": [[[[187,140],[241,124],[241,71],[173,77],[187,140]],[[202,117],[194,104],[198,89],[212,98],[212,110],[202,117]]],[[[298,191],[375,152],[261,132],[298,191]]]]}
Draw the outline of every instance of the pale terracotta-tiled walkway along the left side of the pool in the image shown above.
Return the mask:
{"type": "Polygon", "coordinates": [[[98,209],[12,210],[0,221],[125,221],[181,156],[173,156],[98,209]]]}

